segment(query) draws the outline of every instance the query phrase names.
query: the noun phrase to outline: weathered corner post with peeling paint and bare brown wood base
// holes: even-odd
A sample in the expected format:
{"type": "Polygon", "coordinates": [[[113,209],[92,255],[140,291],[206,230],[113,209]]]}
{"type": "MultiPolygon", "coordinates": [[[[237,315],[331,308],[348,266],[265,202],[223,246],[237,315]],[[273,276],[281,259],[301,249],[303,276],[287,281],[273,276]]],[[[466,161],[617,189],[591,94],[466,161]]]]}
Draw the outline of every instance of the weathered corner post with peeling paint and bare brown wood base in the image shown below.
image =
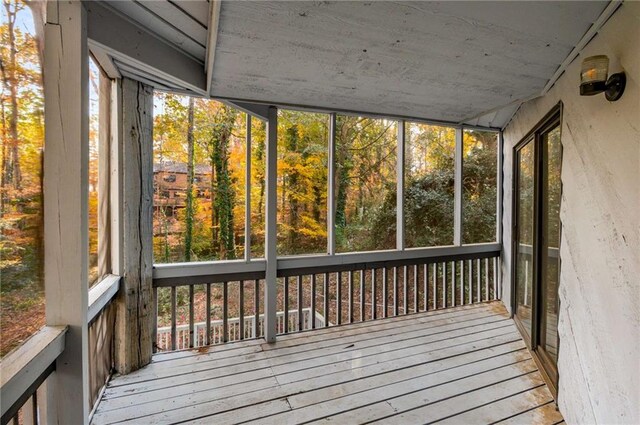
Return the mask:
{"type": "Polygon", "coordinates": [[[123,78],[123,280],[117,298],[115,366],[129,373],[151,361],[153,303],[153,90],[123,78]]]}

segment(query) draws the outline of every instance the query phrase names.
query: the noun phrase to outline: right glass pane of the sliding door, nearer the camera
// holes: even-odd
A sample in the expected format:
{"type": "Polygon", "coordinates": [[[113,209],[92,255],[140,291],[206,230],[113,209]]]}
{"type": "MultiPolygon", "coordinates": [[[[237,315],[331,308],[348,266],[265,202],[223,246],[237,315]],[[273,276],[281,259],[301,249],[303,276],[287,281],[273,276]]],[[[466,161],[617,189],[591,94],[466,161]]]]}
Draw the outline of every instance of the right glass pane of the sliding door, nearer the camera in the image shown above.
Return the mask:
{"type": "Polygon", "coordinates": [[[542,175],[544,210],[542,216],[542,271],[543,279],[543,311],[544,323],[541,329],[542,346],[549,357],[557,361],[558,355],[558,281],[560,263],[558,248],[560,247],[560,166],[561,145],[560,127],[556,127],[543,136],[543,152],[545,153],[542,175]]]}

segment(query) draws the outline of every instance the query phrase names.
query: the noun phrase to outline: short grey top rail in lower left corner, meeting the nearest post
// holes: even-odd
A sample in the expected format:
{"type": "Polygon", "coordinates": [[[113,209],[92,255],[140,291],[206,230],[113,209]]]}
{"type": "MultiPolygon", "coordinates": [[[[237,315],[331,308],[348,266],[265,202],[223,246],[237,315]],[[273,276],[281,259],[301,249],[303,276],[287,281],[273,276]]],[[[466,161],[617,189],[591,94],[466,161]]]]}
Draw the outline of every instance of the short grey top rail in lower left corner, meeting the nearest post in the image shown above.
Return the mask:
{"type": "Polygon", "coordinates": [[[45,326],[2,361],[2,423],[12,418],[55,367],[64,351],[67,326],[45,326]]]}

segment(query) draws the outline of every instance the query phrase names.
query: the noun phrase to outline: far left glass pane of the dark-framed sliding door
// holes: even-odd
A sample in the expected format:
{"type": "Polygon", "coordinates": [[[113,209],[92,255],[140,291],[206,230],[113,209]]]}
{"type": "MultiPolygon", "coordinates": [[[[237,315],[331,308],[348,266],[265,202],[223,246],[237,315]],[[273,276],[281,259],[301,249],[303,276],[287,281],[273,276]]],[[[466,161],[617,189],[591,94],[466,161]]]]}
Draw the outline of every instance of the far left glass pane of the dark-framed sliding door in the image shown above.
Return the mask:
{"type": "Polygon", "coordinates": [[[534,144],[518,151],[517,234],[516,237],[516,315],[531,337],[533,299],[533,220],[534,220],[534,144]]]}

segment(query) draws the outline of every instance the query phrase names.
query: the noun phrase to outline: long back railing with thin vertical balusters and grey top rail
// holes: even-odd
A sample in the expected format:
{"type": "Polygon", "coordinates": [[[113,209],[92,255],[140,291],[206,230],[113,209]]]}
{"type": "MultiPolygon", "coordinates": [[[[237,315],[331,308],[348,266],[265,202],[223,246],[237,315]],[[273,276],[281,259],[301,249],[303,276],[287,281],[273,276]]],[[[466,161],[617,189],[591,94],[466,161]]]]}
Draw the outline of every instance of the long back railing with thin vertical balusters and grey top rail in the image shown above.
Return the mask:
{"type": "MultiPolygon", "coordinates": [[[[486,244],[399,254],[279,259],[276,333],[497,299],[499,255],[499,246],[486,244]],[[315,320],[309,320],[311,312],[315,320]]],[[[264,335],[264,263],[209,266],[156,266],[154,296],[158,314],[154,341],[158,350],[264,335]]]]}

